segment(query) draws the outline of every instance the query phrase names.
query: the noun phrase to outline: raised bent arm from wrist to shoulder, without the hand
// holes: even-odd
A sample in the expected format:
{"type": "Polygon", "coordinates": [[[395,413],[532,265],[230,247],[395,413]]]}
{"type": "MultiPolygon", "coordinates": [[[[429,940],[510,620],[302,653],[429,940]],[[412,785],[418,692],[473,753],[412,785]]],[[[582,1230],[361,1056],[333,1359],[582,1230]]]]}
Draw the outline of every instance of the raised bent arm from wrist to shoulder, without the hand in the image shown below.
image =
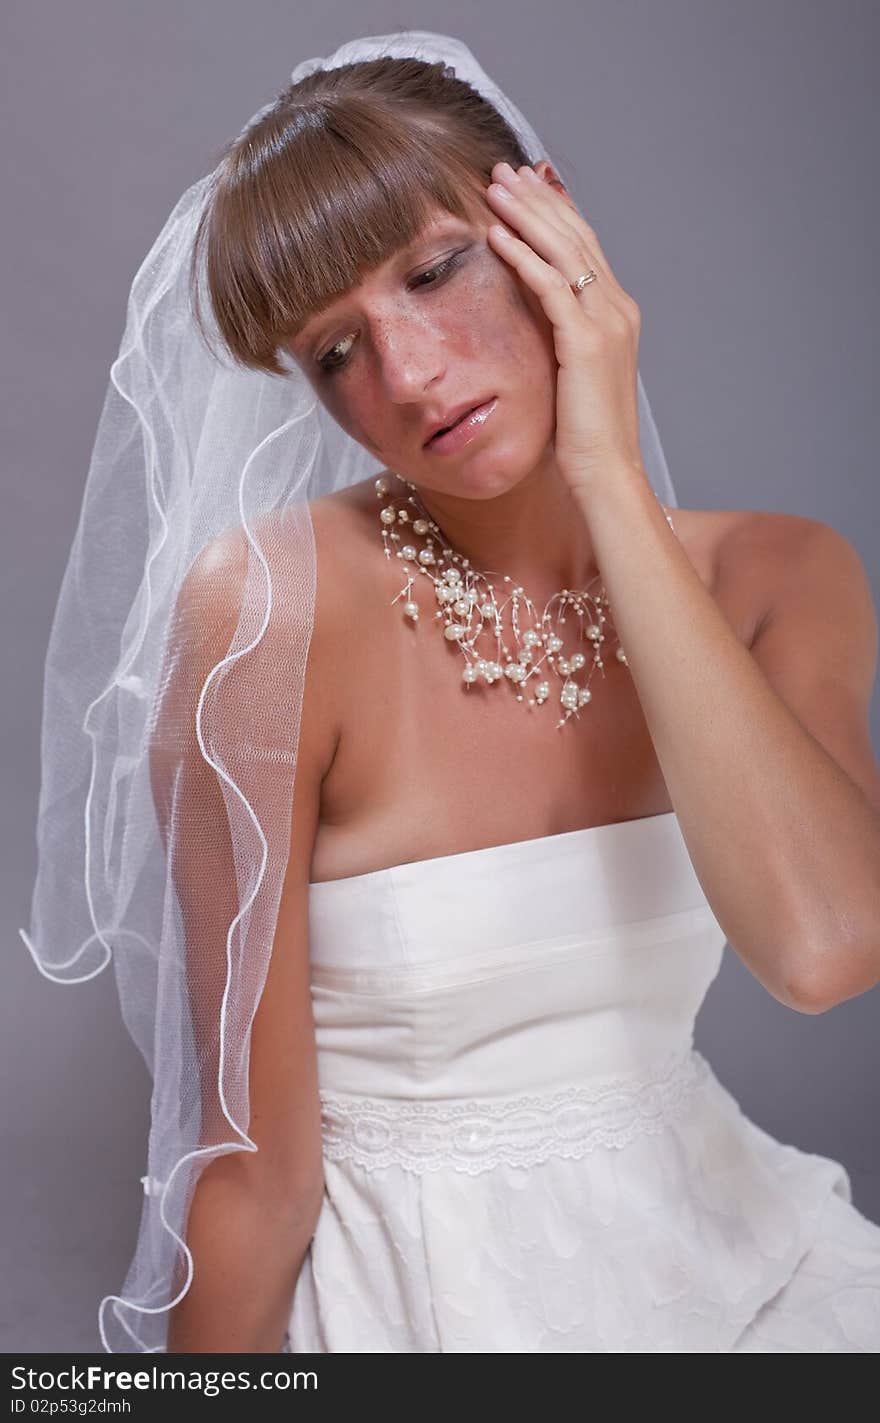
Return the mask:
{"type": "Polygon", "coordinates": [[[582,498],[664,778],[730,946],[799,1012],[866,992],[880,978],[880,773],[867,737],[876,625],[854,551],[832,529],[807,559],[789,546],[785,593],[749,650],[642,472],[609,467],[582,498]]]}

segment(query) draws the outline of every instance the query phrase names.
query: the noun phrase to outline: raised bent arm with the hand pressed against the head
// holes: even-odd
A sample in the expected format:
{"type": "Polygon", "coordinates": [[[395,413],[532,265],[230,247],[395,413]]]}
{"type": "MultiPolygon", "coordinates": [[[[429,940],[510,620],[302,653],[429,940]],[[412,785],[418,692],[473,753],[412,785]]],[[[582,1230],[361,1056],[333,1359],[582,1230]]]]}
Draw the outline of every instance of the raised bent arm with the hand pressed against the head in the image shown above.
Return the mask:
{"type": "MultiPolygon", "coordinates": [[[[554,447],[693,868],[730,946],[805,1013],[880,979],[880,771],[867,739],[876,618],[827,531],[743,647],[669,529],[641,458],[641,312],[562,185],[493,168],[517,229],[490,240],[538,295],[558,359],[554,447]],[[577,295],[572,282],[595,280],[577,295]],[[805,568],[809,576],[805,576],[805,568]],[[763,666],[762,666],[763,663],[763,666]],[[766,669],[766,670],[765,670],[766,669]]],[[[844,546],[846,545],[846,546],[844,546]]]]}

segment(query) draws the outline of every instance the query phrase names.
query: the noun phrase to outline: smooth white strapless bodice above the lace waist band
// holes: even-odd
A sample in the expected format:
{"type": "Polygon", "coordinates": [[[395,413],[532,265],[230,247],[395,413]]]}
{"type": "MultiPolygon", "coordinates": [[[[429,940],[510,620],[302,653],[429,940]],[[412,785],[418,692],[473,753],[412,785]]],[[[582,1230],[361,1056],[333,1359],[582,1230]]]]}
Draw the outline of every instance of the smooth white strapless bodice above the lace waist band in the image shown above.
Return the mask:
{"type": "Polygon", "coordinates": [[[681,1056],[725,936],[675,813],[310,887],[328,1091],[548,1091],[681,1056]]]}

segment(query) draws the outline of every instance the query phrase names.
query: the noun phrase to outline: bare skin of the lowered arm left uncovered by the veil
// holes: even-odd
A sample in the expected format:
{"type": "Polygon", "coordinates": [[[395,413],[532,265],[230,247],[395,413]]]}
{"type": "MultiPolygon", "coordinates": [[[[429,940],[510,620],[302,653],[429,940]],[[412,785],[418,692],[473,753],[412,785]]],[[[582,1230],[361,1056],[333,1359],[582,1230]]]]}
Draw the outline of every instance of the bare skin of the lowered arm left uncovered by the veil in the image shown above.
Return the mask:
{"type": "Polygon", "coordinates": [[[293,850],[251,1039],[248,1131],[258,1151],[216,1157],[199,1177],[187,1225],[194,1276],[172,1311],[168,1352],[278,1353],[318,1224],[323,1165],[308,953],[318,790],[315,746],[303,737],[293,850]]]}

